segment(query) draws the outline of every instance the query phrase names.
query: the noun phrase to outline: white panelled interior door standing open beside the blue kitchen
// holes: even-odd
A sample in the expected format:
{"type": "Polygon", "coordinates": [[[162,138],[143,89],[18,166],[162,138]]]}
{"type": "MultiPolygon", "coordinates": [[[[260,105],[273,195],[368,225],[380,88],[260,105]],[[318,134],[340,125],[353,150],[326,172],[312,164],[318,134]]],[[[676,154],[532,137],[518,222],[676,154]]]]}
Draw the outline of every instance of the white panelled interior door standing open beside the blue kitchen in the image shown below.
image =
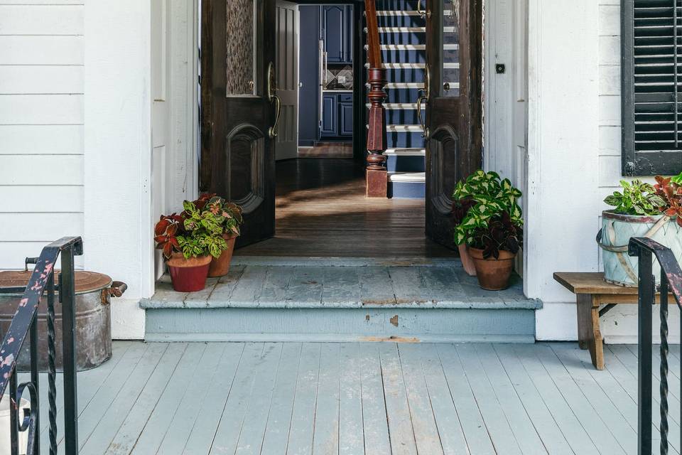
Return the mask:
{"type": "Polygon", "coordinates": [[[276,37],[277,95],[282,108],[275,159],[281,160],[298,156],[298,6],[290,1],[277,1],[276,37]]]}

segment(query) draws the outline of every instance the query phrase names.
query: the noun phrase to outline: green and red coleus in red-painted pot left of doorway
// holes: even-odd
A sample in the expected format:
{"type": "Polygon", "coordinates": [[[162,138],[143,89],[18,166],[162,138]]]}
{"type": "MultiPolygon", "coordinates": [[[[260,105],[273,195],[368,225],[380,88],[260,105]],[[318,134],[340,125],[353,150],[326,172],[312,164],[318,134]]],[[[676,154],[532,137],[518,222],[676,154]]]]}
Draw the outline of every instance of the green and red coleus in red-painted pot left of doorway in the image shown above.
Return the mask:
{"type": "Polygon", "coordinates": [[[185,200],[180,215],[161,215],[154,228],[156,247],[163,250],[173,289],[193,292],[204,289],[212,257],[227,249],[222,220],[185,200]]]}

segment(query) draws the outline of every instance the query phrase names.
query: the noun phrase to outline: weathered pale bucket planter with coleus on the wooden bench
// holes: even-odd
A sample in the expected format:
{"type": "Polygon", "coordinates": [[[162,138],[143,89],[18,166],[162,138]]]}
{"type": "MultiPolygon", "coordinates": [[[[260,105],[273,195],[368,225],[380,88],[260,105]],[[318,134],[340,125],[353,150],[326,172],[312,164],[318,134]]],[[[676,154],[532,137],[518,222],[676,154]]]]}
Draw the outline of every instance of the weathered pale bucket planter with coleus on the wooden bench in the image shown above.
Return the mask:
{"type": "MultiPolygon", "coordinates": [[[[630,237],[649,237],[673,250],[682,260],[682,173],[676,177],[656,176],[656,184],[639,180],[621,181],[622,191],[615,191],[604,202],[612,210],[602,212],[602,228],[597,244],[602,248],[604,279],[621,286],[636,287],[637,257],[629,257],[630,237]]],[[[654,276],[660,279],[659,264],[654,262],[654,276]]]]}

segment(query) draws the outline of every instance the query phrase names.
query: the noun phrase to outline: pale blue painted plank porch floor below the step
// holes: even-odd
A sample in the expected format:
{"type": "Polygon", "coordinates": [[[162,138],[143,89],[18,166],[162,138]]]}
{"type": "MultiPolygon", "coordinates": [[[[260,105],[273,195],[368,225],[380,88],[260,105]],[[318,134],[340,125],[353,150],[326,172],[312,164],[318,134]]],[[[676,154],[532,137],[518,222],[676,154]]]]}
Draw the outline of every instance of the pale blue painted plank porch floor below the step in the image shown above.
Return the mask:
{"type": "MultiPolygon", "coordinates": [[[[80,453],[636,454],[637,347],[605,360],[575,343],[119,341],[78,374],[80,453]]],[[[678,346],[670,360],[677,454],[678,346]]]]}

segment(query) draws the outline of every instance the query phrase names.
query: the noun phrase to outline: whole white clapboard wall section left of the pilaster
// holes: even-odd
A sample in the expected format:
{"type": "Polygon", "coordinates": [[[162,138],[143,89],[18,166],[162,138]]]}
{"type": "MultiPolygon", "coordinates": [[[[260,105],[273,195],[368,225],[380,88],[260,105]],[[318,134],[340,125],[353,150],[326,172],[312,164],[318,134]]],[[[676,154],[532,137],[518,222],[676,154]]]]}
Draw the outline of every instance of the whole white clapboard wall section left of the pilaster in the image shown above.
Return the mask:
{"type": "Polygon", "coordinates": [[[83,233],[83,26],[83,0],[0,0],[0,269],[83,233]]]}

